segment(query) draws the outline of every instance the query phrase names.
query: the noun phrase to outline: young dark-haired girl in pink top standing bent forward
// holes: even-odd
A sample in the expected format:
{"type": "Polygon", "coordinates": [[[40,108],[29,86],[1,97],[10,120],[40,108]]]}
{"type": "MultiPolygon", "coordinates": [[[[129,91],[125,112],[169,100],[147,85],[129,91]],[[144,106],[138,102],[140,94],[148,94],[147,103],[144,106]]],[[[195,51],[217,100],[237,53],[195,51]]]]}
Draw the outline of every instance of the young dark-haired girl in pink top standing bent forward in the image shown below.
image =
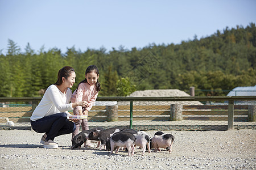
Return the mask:
{"type": "MultiPolygon", "coordinates": [[[[98,68],[94,65],[87,67],[85,71],[85,79],[82,80],[77,89],[73,92],[71,102],[87,101],[88,107],[76,107],[73,109],[74,115],[86,115],[93,107],[97,99],[98,92],[101,90],[101,84],[98,82],[98,68]]],[[[82,125],[82,131],[89,130],[87,118],[75,122],[76,130],[72,133],[72,139],[79,134],[79,128],[82,125]]],[[[88,143],[89,144],[89,143],[88,143]]]]}

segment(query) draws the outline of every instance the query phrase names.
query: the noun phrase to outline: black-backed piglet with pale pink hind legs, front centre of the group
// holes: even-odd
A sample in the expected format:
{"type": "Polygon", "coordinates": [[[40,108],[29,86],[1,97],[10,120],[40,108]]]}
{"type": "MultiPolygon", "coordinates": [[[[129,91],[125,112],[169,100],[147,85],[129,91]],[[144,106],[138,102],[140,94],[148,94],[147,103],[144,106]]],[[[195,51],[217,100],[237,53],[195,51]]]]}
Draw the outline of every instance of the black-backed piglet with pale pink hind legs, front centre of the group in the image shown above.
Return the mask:
{"type": "Polygon", "coordinates": [[[120,147],[126,147],[128,150],[128,156],[134,155],[134,144],[135,144],[136,138],[134,134],[122,132],[113,134],[112,137],[110,137],[110,147],[111,151],[110,154],[113,154],[114,148],[117,147],[117,150],[115,151],[115,154],[118,153],[120,147]]]}

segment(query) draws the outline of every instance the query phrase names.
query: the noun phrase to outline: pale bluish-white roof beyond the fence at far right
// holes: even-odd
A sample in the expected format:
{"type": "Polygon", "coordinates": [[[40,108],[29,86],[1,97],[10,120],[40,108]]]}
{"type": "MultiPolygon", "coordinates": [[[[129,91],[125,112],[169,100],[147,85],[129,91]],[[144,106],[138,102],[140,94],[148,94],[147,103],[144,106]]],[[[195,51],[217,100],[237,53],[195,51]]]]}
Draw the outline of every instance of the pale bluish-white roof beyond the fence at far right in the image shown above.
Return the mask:
{"type": "Polygon", "coordinates": [[[233,88],[227,96],[256,96],[256,85],[233,88]]]}

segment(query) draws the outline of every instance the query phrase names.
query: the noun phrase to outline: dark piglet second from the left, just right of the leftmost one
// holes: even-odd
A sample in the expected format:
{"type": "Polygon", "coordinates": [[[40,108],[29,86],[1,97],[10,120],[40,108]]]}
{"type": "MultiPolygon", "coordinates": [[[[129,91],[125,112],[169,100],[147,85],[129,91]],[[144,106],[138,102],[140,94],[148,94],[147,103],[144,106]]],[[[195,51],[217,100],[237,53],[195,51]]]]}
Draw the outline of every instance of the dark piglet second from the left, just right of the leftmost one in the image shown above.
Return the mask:
{"type": "Polygon", "coordinates": [[[89,133],[88,137],[86,139],[89,140],[100,140],[101,141],[101,147],[100,150],[104,147],[106,149],[106,141],[108,138],[110,138],[114,133],[117,133],[120,131],[119,128],[109,128],[101,131],[93,130],[89,133]]]}

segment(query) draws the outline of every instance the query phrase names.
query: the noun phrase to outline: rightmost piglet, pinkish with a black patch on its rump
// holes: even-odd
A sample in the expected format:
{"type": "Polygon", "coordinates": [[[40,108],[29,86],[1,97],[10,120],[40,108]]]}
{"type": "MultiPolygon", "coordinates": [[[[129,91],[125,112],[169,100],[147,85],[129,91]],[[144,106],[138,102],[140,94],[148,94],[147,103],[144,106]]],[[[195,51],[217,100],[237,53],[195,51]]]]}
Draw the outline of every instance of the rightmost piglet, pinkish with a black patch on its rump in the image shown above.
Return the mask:
{"type": "Polygon", "coordinates": [[[174,144],[174,135],[172,134],[162,134],[162,135],[155,135],[151,138],[152,146],[159,152],[161,151],[160,148],[170,147],[169,153],[172,152],[172,145],[174,144]]]}

